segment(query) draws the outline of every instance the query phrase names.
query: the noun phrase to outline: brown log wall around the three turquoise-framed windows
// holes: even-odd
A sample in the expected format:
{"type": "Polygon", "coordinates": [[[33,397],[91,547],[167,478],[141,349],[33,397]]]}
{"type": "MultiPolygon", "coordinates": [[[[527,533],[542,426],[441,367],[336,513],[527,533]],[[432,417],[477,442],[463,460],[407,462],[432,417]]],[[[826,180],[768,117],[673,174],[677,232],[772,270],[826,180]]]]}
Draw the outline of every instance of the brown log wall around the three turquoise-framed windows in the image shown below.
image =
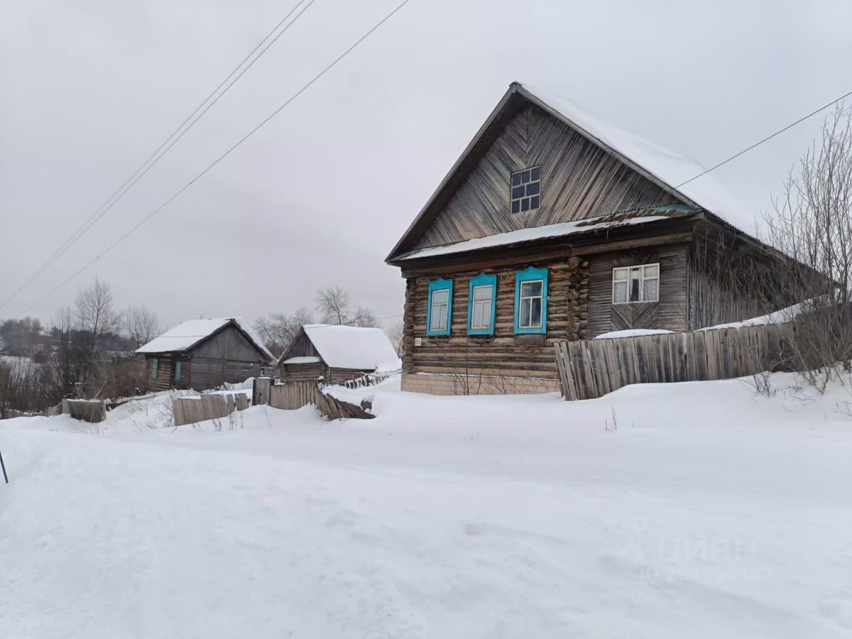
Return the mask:
{"type": "MultiPolygon", "coordinates": [[[[449,337],[428,337],[426,316],[429,281],[409,278],[406,282],[403,371],[470,375],[556,378],[553,343],[584,336],[586,310],[586,264],[579,258],[546,264],[548,268],[548,313],[546,335],[515,335],[515,273],[529,264],[486,270],[497,275],[493,336],[467,334],[470,279],[479,271],[452,275],[452,324],[449,337]],[[414,346],[414,338],[422,339],[414,346]]],[[[446,277],[446,276],[445,276],[446,277]]]]}

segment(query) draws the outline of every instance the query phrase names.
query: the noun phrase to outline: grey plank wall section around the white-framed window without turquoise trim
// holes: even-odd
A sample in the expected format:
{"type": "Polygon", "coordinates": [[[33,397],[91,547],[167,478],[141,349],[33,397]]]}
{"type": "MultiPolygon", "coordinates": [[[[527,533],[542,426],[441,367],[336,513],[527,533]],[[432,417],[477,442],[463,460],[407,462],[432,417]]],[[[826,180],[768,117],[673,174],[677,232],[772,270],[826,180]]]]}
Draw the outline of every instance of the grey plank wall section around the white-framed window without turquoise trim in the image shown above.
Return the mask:
{"type": "Polygon", "coordinates": [[[688,245],[590,256],[589,337],[631,328],[687,331],[688,245]],[[659,302],[613,304],[613,268],[659,262],[659,302]]]}

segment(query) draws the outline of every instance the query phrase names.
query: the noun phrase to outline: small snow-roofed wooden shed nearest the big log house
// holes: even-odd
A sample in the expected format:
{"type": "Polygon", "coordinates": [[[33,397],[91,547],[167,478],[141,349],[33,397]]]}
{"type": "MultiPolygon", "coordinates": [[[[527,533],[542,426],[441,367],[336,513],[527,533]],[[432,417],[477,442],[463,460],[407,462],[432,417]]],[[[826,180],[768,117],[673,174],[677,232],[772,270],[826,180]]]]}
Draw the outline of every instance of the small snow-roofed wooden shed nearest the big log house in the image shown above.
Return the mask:
{"type": "Polygon", "coordinates": [[[278,362],[282,381],[343,383],[371,372],[399,371],[401,362],[380,328],[303,325],[278,362]]]}

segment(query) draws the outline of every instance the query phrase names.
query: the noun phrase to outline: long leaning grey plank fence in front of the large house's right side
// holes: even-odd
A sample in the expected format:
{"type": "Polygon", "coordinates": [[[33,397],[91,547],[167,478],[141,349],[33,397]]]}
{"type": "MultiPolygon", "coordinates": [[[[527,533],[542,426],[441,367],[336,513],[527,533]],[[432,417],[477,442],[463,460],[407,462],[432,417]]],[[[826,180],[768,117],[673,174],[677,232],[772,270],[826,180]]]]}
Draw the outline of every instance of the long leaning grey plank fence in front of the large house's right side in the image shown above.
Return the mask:
{"type": "Polygon", "coordinates": [[[601,397],[635,383],[730,379],[790,370],[791,324],[557,342],[566,400],[601,397]]]}

